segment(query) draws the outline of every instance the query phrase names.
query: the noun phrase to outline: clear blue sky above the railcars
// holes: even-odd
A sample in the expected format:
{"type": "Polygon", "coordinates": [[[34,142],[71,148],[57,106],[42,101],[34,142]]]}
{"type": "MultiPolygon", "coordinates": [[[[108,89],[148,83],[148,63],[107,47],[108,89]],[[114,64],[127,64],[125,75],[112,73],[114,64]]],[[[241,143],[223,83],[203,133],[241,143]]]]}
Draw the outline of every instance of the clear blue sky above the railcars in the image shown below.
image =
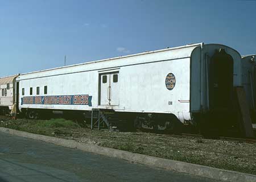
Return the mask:
{"type": "Polygon", "coordinates": [[[256,1],[0,0],[0,76],[198,42],[256,53],[256,1]]]}

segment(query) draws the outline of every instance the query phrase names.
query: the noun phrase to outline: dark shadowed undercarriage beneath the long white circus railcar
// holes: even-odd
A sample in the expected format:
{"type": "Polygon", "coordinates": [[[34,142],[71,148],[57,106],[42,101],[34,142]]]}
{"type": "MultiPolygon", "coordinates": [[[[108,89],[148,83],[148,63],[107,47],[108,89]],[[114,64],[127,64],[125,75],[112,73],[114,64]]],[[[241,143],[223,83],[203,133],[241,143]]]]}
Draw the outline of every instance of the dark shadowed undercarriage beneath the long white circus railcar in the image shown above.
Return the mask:
{"type": "Polygon", "coordinates": [[[205,137],[245,137],[240,115],[235,111],[216,110],[208,113],[193,113],[192,121],[181,123],[174,114],[119,113],[114,110],[93,109],[47,110],[23,109],[19,117],[29,119],[65,118],[91,129],[111,131],[142,131],[168,134],[203,134],[205,137]]]}

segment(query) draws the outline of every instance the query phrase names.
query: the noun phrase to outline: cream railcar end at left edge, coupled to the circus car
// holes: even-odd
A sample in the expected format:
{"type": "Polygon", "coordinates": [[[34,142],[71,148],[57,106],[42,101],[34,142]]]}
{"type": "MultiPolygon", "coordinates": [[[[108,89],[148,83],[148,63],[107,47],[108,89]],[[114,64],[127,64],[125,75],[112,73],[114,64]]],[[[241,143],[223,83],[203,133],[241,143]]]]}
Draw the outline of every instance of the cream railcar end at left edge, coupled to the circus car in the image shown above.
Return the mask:
{"type": "Polygon", "coordinates": [[[15,103],[15,81],[18,75],[0,78],[0,112],[10,113],[15,103]]]}

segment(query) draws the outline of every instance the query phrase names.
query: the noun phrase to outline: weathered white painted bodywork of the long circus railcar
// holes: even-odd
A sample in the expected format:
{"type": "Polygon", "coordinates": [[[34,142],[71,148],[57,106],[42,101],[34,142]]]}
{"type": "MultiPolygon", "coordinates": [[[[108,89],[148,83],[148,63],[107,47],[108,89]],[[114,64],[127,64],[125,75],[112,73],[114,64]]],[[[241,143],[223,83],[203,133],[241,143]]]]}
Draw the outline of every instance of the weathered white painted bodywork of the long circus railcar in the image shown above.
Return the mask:
{"type": "Polygon", "coordinates": [[[203,46],[201,43],[20,75],[17,78],[20,98],[30,96],[30,87],[33,88],[32,96],[36,96],[37,86],[40,87],[38,96],[44,96],[43,88],[47,85],[47,96],[89,94],[92,96],[92,106],[20,105],[19,98],[19,109],[114,109],[125,112],[172,113],[182,122],[191,120],[191,111],[199,112],[201,104],[207,107],[204,55],[208,53],[212,56],[219,48],[224,48],[233,57],[234,85],[241,85],[241,71],[237,67],[241,64],[240,54],[223,45],[203,46]],[[113,83],[112,73],[117,71],[118,82],[113,83]],[[98,83],[102,80],[99,78],[102,78],[103,73],[112,81],[109,82],[113,87],[112,92],[110,91],[113,102],[110,101],[110,105],[108,84],[104,86],[98,83]],[[173,73],[176,77],[176,85],[172,90],[168,90],[165,84],[168,73],[173,73]],[[103,94],[99,92],[100,86],[103,94]],[[25,89],[24,96],[22,88],[25,89]]]}

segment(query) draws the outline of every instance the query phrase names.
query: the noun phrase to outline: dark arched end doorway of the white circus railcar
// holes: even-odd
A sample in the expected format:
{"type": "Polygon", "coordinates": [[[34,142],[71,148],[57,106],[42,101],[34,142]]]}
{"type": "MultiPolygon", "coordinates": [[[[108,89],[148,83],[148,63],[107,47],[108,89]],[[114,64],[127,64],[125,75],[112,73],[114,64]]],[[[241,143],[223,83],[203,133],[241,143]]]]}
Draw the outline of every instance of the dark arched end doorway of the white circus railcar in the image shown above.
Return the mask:
{"type": "Polygon", "coordinates": [[[209,113],[205,118],[205,135],[237,135],[238,119],[234,101],[232,56],[216,50],[209,63],[209,113]]]}

